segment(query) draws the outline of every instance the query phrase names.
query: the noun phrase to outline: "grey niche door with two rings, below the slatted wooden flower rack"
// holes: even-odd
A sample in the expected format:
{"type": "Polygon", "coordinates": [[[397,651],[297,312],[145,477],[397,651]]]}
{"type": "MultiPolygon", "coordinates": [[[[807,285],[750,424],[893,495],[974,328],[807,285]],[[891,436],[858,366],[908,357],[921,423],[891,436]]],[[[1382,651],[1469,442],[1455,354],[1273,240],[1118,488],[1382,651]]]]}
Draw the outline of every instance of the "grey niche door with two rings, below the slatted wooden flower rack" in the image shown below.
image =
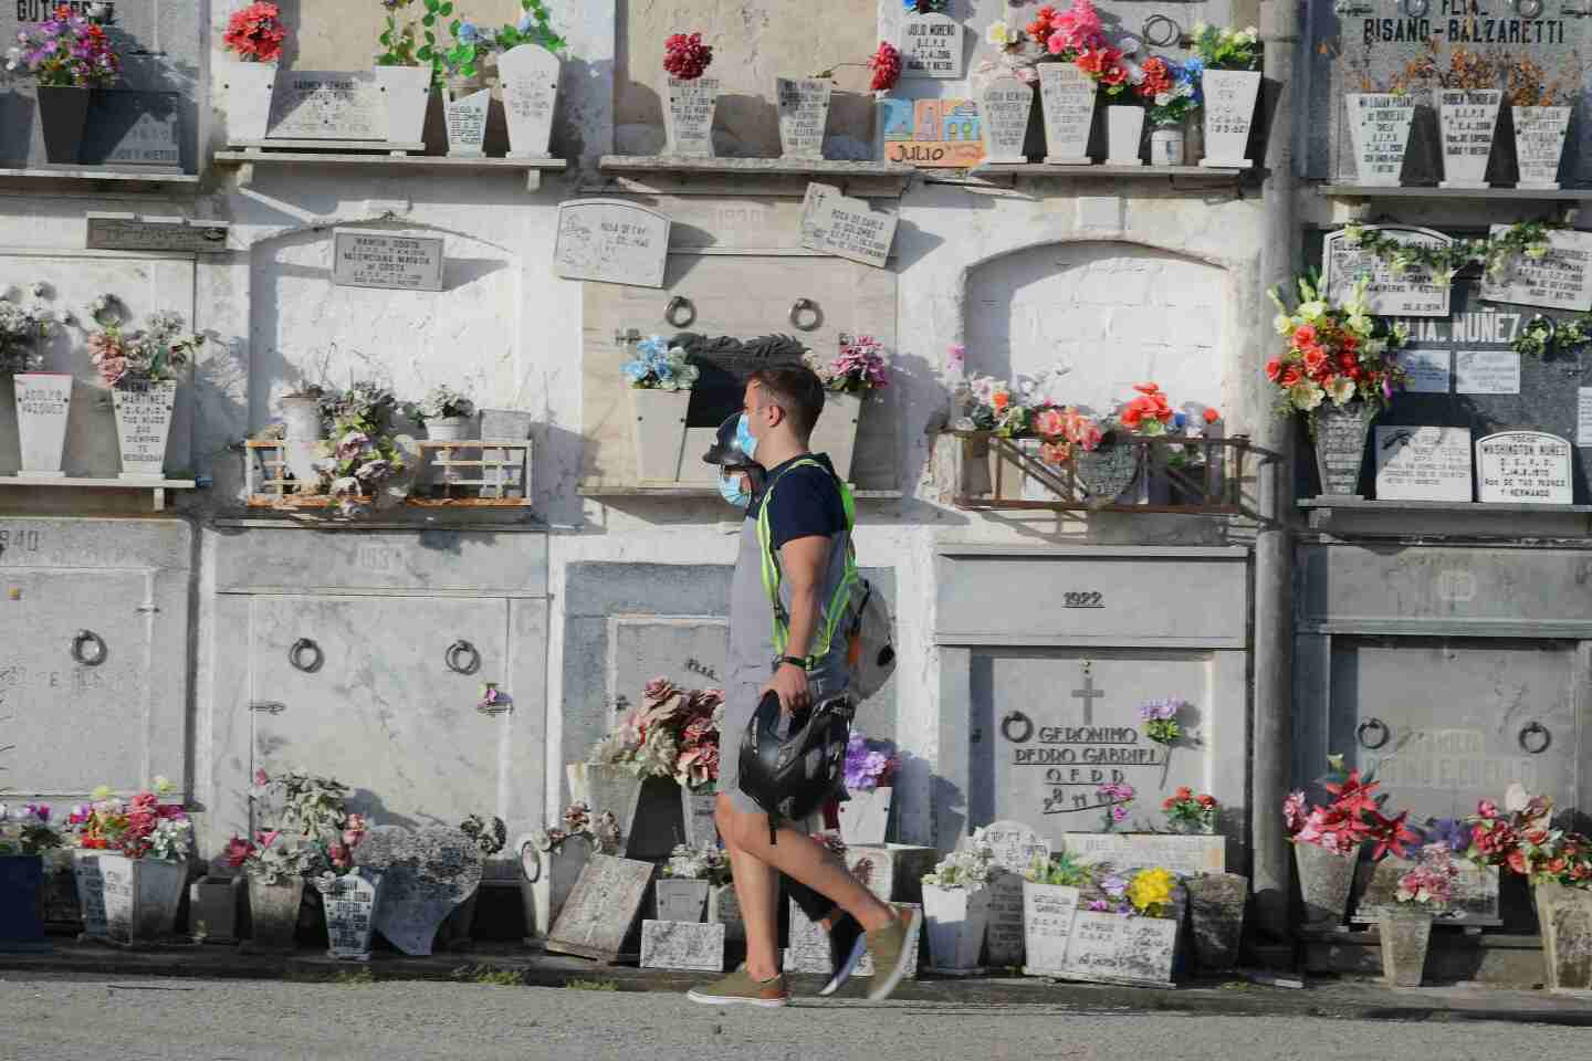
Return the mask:
{"type": "Polygon", "coordinates": [[[478,709],[482,682],[513,689],[508,600],[256,597],[250,612],[252,770],[333,776],[374,824],[408,827],[497,813],[503,784],[541,784],[500,776],[519,759],[514,714],[478,709]]]}

